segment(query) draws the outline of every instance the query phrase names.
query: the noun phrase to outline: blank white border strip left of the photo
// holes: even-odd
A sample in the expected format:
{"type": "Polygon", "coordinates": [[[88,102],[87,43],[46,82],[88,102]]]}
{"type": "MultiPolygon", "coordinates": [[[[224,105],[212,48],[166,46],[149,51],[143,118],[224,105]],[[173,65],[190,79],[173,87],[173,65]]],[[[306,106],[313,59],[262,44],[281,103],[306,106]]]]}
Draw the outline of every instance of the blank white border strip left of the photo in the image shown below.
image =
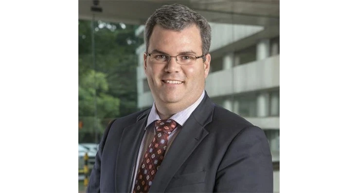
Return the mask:
{"type": "Polygon", "coordinates": [[[77,192],[78,2],[1,8],[1,190],[77,192]]]}

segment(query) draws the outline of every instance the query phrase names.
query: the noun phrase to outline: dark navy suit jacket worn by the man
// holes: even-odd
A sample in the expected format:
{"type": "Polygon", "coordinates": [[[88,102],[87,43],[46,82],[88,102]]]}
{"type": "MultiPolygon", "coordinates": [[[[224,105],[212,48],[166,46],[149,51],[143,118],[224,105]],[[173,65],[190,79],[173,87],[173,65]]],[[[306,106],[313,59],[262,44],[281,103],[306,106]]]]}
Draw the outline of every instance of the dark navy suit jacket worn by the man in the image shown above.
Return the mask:
{"type": "MultiPolygon", "coordinates": [[[[113,120],[99,144],[87,192],[131,192],[150,109],[113,120]]],[[[152,186],[161,192],[272,193],[265,133],[205,93],[166,152],[152,186]]]]}

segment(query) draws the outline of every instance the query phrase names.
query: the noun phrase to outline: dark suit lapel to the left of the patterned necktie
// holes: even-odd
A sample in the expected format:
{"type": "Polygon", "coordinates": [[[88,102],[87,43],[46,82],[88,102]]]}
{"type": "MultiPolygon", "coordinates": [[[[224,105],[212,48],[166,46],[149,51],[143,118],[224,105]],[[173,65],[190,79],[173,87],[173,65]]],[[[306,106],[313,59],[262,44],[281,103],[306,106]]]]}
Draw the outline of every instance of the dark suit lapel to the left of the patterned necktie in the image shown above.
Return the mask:
{"type": "Polygon", "coordinates": [[[144,127],[149,111],[138,116],[137,122],[126,127],[121,135],[117,154],[115,173],[116,192],[131,192],[132,174],[137,161],[138,151],[144,135],[144,127]]]}

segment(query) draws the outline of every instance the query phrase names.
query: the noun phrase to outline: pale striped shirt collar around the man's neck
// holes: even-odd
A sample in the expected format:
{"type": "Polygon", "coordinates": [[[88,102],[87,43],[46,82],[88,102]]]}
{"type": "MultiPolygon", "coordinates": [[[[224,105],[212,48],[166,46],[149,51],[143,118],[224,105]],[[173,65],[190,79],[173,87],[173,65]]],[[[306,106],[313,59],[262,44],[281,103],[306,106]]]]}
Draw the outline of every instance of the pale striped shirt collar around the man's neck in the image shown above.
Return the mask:
{"type": "MultiPolygon", "coordinates": [[[[200,104],[200,102],[202,101],[204,96],[205,96],[205,90],[203,90],[203,92],[201,93],[201,96],[197,99],[197,101],[195,101],[192,105],[190,105],[186,109],[174,114],[173,116],[170,117],[170,119],[175,120],[175,122],[177,122],[177,123],[179,123],[179,125],[183,126],[184,123],[186,122],[186,120],[188,120],[189,116],[193,113],[193,111],[200,104]]],[[[157,113],[157,109],[155,107],[155,102],[153,102],[152,109],[150,110],[150,113],[149,113],[149,116],[147,119],[147,124],[146,124],[144,130],[146,130],[146,128],[152,122],[154,122],[156,120],[161,120],[161,117],[159,117],[159,115],[157,113]]]]}

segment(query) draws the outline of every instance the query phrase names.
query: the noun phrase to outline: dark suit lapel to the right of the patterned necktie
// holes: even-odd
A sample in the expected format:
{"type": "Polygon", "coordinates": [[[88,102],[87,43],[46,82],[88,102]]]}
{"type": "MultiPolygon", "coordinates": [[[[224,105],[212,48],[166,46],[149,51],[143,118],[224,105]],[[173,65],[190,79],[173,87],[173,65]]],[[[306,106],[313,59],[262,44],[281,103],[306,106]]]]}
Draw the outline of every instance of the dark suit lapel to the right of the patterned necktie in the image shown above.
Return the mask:
{"type": "Polygon", "coordinates": [[[197,109],[188,118],[166,153],[149,192],[164,192],[174,174],[197,145],[208,135],[205,125],[212,121],[214,103],[205,94],[197,109]]]}

